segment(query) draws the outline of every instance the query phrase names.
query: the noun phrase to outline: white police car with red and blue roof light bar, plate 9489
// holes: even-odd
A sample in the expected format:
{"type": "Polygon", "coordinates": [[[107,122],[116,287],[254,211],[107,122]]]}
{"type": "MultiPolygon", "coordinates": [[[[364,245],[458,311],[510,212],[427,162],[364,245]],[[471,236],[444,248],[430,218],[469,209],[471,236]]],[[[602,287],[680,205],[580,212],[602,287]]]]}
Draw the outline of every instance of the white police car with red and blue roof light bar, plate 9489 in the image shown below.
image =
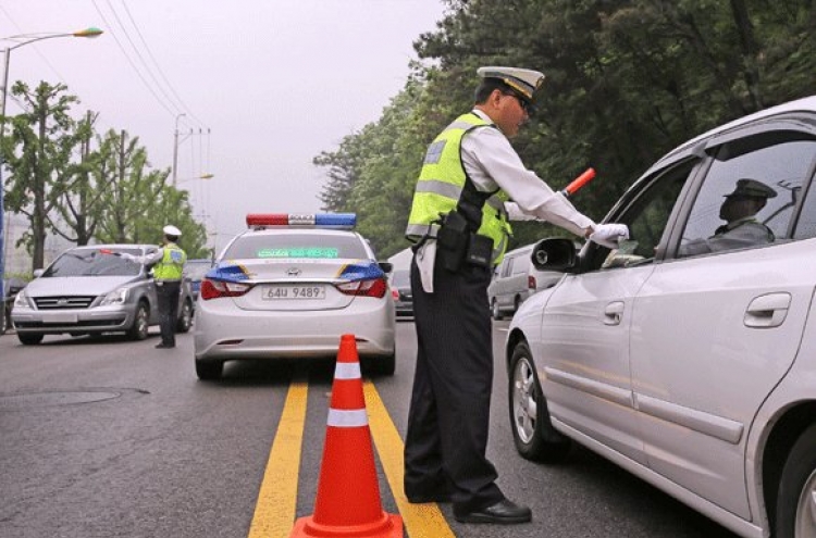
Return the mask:
{"type": "Polygon", "coordinates": [[[200,379],[225,361],[320,358],[353,334],[366,367],[395,370],[395,314],[387,277],[354,214],[248,215],[249,229],[201,281],[195,324],[200,379]]]}

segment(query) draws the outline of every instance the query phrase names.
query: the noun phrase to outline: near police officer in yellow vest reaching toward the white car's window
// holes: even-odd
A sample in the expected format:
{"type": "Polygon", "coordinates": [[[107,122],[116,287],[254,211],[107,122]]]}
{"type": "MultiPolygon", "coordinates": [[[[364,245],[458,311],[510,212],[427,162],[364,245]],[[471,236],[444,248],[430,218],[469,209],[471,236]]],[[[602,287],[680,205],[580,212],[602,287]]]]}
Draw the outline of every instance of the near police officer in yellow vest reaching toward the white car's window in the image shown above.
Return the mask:
{"type": "Polygon", "coordinates": [[[418,336],[405,493],[410,502],[453,501],[463,523],[524,523],[486,459],[493,384],[487,285],[507,248],[508,220],[540,220],[615,247],[620,224],[595,224],[522,164],[509,139],[529,118],[544,75],[481,67],[472,111],[430,145],[406,235],[418,336]],[[512,200],[512,201],[510,201],[512,200]]]}

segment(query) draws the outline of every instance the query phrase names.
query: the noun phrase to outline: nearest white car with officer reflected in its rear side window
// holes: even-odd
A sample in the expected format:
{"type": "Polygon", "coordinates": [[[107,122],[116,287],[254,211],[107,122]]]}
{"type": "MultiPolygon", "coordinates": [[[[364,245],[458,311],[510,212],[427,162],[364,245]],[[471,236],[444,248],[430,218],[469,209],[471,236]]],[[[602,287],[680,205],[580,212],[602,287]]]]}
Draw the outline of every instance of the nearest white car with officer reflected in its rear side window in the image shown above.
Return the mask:
{"type": "Polygon", "coordinates": [[[564,277],[508,328],[518,451],[577,441],[740,536],[816,536],[815,172],[811,97],[657,161],[617,249],[541,241],[564,277]]]}

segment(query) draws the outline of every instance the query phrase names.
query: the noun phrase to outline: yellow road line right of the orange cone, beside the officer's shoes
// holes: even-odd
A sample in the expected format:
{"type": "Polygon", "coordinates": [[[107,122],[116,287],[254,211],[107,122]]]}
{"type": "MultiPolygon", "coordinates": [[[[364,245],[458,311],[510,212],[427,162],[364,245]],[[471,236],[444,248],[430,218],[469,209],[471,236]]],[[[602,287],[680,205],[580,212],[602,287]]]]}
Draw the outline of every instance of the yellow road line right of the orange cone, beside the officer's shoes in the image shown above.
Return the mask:
{"type": "Polygon", "coordinates": [[[366,409],[369,413],[369,427],[374,438],[380,462],[397,503],[399,514],[411,538],[456,538],[440,508],[434,503],[411,504],[403,492],[403,439],[385,409],[380,393],[370,380],[362,385],[366,395],[366,409]]]}

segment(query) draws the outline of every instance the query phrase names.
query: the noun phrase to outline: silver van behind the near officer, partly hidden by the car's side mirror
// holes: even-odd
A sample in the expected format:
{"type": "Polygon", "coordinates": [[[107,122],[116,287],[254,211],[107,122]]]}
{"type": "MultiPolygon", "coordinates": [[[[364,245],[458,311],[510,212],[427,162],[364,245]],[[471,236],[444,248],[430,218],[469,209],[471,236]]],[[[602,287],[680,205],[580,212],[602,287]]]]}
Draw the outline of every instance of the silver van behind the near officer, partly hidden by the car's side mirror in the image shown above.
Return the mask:
{"type": "Polygon", "coordinates": [[[512,315],[537,290],[547,289],[561,278],[556,271],[539,271],[532,263],[533,245],[508,251],[493,273],[487,300],[494,320],[512,315]]]}

